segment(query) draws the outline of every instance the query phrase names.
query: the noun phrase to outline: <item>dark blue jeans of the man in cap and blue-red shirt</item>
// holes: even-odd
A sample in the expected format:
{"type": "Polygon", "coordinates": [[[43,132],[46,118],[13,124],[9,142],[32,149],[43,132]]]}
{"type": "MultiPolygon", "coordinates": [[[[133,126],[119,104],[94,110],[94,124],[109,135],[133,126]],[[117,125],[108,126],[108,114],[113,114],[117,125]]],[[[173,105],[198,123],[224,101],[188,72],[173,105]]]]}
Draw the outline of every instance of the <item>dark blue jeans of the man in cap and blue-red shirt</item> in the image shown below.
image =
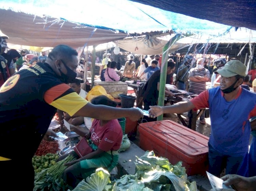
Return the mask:
{"type": "Polygon", "coordinates": [[[242,156],[224,155],[216,151],[210,143],[209,146],[209,172],[219,176],[224,169],[226,174],[248,176],[248,154],[242,156]]]}

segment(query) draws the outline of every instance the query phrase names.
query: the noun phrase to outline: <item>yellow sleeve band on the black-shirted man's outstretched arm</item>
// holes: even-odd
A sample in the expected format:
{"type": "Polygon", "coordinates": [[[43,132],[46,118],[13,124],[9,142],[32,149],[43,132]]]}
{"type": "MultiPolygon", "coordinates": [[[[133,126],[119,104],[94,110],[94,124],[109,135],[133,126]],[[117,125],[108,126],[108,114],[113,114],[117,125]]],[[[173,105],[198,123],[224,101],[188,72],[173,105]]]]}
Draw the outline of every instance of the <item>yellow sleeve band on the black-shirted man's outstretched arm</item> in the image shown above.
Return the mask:
{"type": "Polygon", "coordinates": [[[54,100],[50,105],[57,109],[67,112],[70,116],[73,116],[79,109],[88,103],[87,100],[82,98],[76,92],[69,93],[54,100]]]}

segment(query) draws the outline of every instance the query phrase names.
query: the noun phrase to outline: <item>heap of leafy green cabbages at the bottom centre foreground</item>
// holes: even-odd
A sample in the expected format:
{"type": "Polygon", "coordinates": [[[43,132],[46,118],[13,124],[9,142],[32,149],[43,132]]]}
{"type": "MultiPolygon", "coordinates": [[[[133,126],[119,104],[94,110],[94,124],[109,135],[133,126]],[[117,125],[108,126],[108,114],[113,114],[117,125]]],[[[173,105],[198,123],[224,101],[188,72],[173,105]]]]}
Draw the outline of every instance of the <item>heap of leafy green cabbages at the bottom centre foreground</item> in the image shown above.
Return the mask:
{"type": "Polygon", "coordinates": [[[73,191],[197,191],[196,182],[187,180],[181,162],[172,165],[168,159],[147,151],[134,163],[135,175],[124,175],[110,182],[108,171],[100,168],[86,181],[82,180],[73,191]]]}

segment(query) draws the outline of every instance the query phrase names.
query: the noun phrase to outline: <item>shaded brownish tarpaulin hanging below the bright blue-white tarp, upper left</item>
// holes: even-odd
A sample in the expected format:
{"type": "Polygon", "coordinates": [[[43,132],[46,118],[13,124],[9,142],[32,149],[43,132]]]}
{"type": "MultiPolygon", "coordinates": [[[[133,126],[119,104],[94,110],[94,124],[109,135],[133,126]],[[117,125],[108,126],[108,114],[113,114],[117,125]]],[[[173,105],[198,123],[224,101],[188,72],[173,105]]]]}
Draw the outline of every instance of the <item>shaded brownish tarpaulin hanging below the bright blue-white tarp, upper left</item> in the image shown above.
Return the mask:
{"type": "Polygon", "coordinates": [[[61,19],[41,18],[11,10],[0,10],[1,31],[7,42],[17,45],[55,47],[66,44],[73,48],[98,45],[127,36],[118,31],[97,29],[61,19]]]}

